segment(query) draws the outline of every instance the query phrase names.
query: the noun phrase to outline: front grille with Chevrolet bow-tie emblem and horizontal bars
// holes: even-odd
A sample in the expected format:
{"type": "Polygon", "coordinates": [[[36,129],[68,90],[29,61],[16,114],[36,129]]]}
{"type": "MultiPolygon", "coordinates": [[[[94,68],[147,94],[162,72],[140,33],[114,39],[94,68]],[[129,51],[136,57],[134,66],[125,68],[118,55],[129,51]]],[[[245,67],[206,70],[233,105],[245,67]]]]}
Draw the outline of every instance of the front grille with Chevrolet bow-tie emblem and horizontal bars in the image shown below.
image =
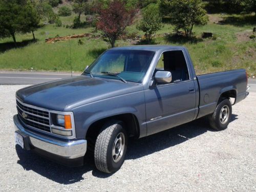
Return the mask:
{"type": "Polygon", "coordinates": [[[18,100],[16,100],[16,103],[18,116],[26,125],[42,131],[51,132],[48,111],[27,106],[18,100]]]}

